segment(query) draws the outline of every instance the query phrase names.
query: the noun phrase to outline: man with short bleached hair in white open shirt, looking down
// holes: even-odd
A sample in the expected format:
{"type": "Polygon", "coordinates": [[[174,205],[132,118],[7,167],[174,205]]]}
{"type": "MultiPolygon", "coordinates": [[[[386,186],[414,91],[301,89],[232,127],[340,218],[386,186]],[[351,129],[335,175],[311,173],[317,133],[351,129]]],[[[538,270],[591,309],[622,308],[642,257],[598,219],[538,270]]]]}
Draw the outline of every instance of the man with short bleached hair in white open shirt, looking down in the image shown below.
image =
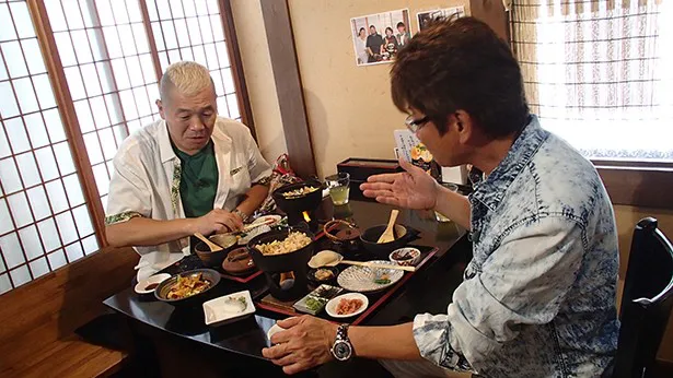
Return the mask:
{"type": "Polygon", "coordinates": [[[161,78],[161,120],[128,137],[114,158],[107,241],[135,246],[144,277],[190,252],[190,235],[241,228],[271,175],[247,127],[218,116],[208,69],[171,64],[161,78]]]}

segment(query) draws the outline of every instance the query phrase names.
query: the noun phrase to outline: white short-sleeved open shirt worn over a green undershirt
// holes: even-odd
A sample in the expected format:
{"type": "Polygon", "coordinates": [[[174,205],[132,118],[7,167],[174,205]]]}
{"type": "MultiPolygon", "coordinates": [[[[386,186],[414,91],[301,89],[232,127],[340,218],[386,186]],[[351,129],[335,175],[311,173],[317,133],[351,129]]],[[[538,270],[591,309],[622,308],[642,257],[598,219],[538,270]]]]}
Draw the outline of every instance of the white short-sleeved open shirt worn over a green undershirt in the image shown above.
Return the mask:
{"type": "MultiPolygon", "coordinates": [[[[219,180],[214,209],[233,210],[253,182],[271,175],[245,125],[218,117],[211,135],[219,180]]],[[[164,120],[146,126],[128,137],[113,161],[105,224],[136,216],[169,221],[184,218],[179,196],[181,162],[173,152],[164,120]]],[[[140,253],[138,277],[142,279],[189,253],[189,237],[152,247],[135,247],[140,253]]]]}

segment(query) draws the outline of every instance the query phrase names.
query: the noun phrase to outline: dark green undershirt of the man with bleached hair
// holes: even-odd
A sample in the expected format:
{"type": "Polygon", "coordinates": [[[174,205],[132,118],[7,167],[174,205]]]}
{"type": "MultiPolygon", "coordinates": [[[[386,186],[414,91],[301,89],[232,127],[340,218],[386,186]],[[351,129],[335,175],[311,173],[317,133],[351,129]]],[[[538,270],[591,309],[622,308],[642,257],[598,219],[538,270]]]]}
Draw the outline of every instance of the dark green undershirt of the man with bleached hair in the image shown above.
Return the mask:
{"type": "Polygon", "coordinates": [[[194,155],[178,150],[173,141],[171,145],[182,166],[179,197],[185,216],[198,217],[208,214],[213,208],[219,176],[212,140],[194,155]]]}

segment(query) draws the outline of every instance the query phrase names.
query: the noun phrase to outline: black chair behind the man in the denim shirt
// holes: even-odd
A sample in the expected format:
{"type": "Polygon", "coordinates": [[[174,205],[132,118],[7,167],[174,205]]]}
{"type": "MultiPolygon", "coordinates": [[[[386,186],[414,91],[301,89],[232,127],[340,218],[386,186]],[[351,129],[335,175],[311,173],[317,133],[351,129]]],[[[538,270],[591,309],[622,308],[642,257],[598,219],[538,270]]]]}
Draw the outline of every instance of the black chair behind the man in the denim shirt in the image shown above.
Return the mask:
{"type": "Polygon", "coordinates": [[[634,231],[613,377],[647,377],[673,307],[673,246],[646,217],[634,231]]]}

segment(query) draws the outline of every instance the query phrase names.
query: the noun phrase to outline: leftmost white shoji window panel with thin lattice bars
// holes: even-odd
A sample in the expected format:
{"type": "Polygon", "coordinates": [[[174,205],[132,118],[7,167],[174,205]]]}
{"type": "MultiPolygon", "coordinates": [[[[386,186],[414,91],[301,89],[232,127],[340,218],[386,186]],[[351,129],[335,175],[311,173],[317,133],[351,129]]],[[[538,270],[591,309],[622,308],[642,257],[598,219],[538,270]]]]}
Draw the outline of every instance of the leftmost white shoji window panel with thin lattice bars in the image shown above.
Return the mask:
{"type": "MultiPolygon", "coordinates": [[[[77,190],[74,192],[69,191],[72,187],[66,181],[70,181],[71,178],[76,177],[77,184],[81,185],[80,175],[77,172],[76,162],[70,151],[71,141],[63,126],[59,105],[56,103],[57,94],[54,88],[49,87],[48,94],[53,97],[54,103],[43,103],[46,98],[40,96],[40,91],[47,90],[42,87],[38,91],[36,86],[38,78],[49,80],[47,62],[40,56],[39,66],[42,68],[31,67],[27,58],[26,43],[34,42],[37,44],[36,47],[40,49],[38,35],[35,31],[32,31],[30,35],[25,33],[25,29],[23,31],[24,33],[21,33],[19,27],[21,24],[16,22],[16,15],[22,13],[21,10],[26,11],[26,14],[30,16],[28,4],[25,1],[16,1],[2,3],[2,5],[8,11],[7,15],[10,17],[9,29],[11,29],[10,33],[14,34],[14,37],[2,40],[3,48],[0,56],[3,60],[2,70],[5,71],[5,78],[2,78],[0,82],[8,84],[16,111],[15,114],[12,111],[3,113],[0,117],[3,123],[0,132],[3,133],[2,138],[5,139],[4,143],[7,143],[2,164],[8,164],[10,172],[12,168],[14,169],[15,179],[19,181],[20,187],[16,187],[16,181],[11,178],[12,175],[8,176],[10,178],[8,181],[0,182],[0,191],[2,192],[0,198],[7,212],[7,218],[3,221],[5,225],[10,225],[9,228],[3,228],[0,232],[0,237],[8,243],[3,247],[7,248],[9,245],[9,248],[11,248],[3,249],[0,253],[0,279],[4,276],[10,286],[9,290],[12,290],[26,281],[33,281],[54,271],[55,264],[60,267],[63,263],[70,263],[90,255],[95,250],[93,248],[97,248],[97,235],[91,220],[89,220],[91,223],[85,225],[85,227],[82,227],[83,224],[76,222],[78,220],[76,211],[79,212],[82,209],[89,215],[90,208],[85,203],[83,191],[80,194],[77,193],[77,190]],[[12,4],[16,4],[16,7],[14,8],[12,4]],[[15,44],[20,51],[16,55],[8,55],[4,46],[9,44],[15,44]],[[24,67],[25,73],[14,71],[18,67],[13,67],[14,70],[12,70],[12,64],[9,63],[12,61],[11,57],[20,57],[22,62],[26,63],[24,67]],[[19,81],[23,83],[20,85],[19,81]],[[25,90],[26,87],[30,87],[28,92],[33,95],[34,108],[27,105],[30,103],[25,102],[30,99],[26,96],[26,92],[24,92],[23,96],[19,95],[20,88],[25,90]],[[59,119],[50,119],[54,123],[49,123],[47,122],[46,114],[53,111],[58,114],[57,117],[59,119]],[[28,117],[32,118],[30,122],[27,121],[28,117]],[[46,142],[45,140],[36,142],[38,138],[33,139],[34,134],[31,133],[31,126],[36,126],[35,117],[38,118],[37,122],[42,123],[43,132],[45,133],[43,137],[46,138],[46,142]],[[10,122],[14,125],[10,126],[10,122]],[[20,125],[16,125],[16,122],[20,125]],[[55,135],[51,132],[56,129],[62,132],[62,139],[60,135],[54,138],[55,135]],[[23,138],[16,137],[16,130],[23,132],[23,138]],[[20,139],[27,145],[15,144],[20,139]],[[57,152],[56,149],[61,146],[68,149],[68,155],[63,154],[63,151],[57,152]],[[43,163],[46,163],[46,161],[39,158],[39,155],[45,157],[43,153],[49,155],[47,160],[54,166],[43,165],[43,163]],[[20,164],[20,158],[26,158],[25,163],[20,164]],[[72,164],[72,166],[68,163],[72,164]],[[23,168],[26,168],[26,170],[23,168]],[[31,173],[31,170],[33,172],[31,173]],[[5,187],[5,184],[13,185],[5,187]],[[35,194],[35,198],[38,198],[40,191],[44,203],[35,205],[35,203],[31,202],[31,192],[35,194]],[[59,197],[59,193],[62,197],[59,197]],[[70,197],[71,193],[74,196],[70,197]],[[19,209],[22,204],[21,199],[23,199],[24,209],[19,209]],[[15,206],[12,206],[12,202],[15,206]],[[51,227],[48,226],[49,224],[51,227]],[[69,225],[70,228],[66,225],[69,225]],[[43,226],[46,231],[43,229],[43,226]],[[88,229],[89,227],[91,229],[88,229]],[[48,228],[51,228],[51,231],[48,228]],[[95,239],[96,247],[89,243],[91,238],[95,239]],[[54,243],[56,243],[56,246],[54,243]],[[13,244],[15,245],[12,246],[13,244]],[[13,261],[8,258],[12,257],[12,255],[13,261]],[[59,255],[61,259],[58,259],[59,255]],[[22,261],[16,261],[18,256],[22,261]],[[55,259],[54,261],[51,260],[53,258],[55,259]]],[[[32,51],[32,54],[35,52],[34,50],[32,51]]],[[[42,50],[37,54],[42,55],[42,50]]],[[[70,181],[70,184],[72,182],[70,181]]],[[[79,215],[82,216],[83,214],[80,213],[79,215]]],[[[0,293],[5,292],[7,287],[3,286],[4,283],[0,282],[0,293]]]]}

